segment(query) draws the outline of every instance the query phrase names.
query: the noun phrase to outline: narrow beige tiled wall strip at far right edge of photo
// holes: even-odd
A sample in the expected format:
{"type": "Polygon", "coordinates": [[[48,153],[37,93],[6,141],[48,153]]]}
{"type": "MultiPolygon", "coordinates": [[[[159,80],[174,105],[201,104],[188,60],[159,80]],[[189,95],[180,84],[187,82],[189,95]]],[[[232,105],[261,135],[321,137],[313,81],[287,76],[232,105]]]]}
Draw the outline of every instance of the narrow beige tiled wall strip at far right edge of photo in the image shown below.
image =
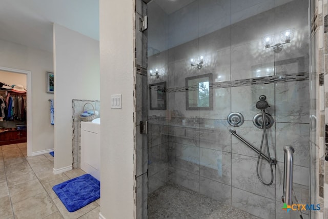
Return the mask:
{"type": "Polygon", "coordinates": [[[314,0],[314,15],[312,17],[312,41],[315,42],[315,74],[313,76],[317,115],[315,139],[317,142],[318,171],[315,184],[318,203],[324,206],[320,209],[318,218],[328,217],[328,3],[314,0]]]}

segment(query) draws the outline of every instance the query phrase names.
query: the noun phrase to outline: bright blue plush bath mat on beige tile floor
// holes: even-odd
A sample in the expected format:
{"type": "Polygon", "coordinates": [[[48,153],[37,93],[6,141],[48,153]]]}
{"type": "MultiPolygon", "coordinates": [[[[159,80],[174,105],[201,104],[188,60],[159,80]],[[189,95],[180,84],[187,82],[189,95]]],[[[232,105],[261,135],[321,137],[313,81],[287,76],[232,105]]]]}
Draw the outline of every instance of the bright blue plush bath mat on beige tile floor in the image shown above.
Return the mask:
{"type": "Polygon", "coordinates": [[[76,211],[100,198],[100,182],[90,174],[52,187],[69,212],[76,211]]]}

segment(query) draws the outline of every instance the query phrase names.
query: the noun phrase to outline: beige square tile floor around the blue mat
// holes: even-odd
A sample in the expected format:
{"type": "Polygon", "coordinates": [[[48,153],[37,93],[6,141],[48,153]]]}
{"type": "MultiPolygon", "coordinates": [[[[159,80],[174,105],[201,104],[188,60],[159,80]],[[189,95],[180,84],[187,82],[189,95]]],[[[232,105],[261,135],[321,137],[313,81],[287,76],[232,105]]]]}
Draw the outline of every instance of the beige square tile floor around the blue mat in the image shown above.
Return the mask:
{"type": "Polygon", "coordinates": [[[69,212],[52,190],[83,170],[54,175],[50,154],[27,157],[26,151],[26,143],[0,146],[0,219],[98,218],[100,199],[69,212]]]}

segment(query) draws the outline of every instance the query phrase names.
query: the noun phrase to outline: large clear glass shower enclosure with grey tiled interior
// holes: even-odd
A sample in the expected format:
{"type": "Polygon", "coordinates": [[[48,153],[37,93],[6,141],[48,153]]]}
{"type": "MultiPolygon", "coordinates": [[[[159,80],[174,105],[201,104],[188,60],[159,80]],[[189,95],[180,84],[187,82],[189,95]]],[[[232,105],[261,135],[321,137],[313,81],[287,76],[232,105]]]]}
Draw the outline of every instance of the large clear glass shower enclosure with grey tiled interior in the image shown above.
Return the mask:
{"type": "Polygon", "coordinates": [[[281,201],[285,145],[295,149],[294,202],[313,200],[309,7],[309,0],[136,2],[137,218],[312,218],[287,213],[281,201]],[[263,95],[277,161],[269,186],[257,176],[259,163],[270,182],[269,163],[230,132],[260,148],[263,95]]]}

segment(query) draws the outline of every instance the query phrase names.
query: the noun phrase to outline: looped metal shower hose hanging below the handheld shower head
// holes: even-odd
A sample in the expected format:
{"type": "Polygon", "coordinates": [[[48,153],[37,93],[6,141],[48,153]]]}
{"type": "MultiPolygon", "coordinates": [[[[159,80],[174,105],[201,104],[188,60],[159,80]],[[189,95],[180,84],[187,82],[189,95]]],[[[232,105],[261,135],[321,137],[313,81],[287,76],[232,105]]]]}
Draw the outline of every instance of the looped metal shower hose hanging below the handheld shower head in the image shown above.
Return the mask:
{"type": "Polygon", "coordinates": [[[262,109],[262,127],[263,127],[263,133],[262,133],[262,140],[261,140],[261,146],[260,146],[260,151],[258,153],[258,157],[257,157],[257,164],[256,164],[256,174],[257,177],[259,179],[259,181],[266,185],[266,186],[270,186],[273,183],[273,168],[272,168],[272,160],[271,160],[271,156],[270,156],[270,150],[269,150],[269,143],[268,143],[268,136],[267,136],[267,127],[265,126],[265,110],[262,109]],[[262,180],[260,174],[259,174],[259,163],[260,163],[260,157],[261,157],[261,153],[262,153],[262,147],[263,147],[263,143],[264,143],[264,138],[265,138],[265,144],[267,145],[267,151],[268,151],[268,157],[269,157],[269,163],[270,163],[270,169],[271,169],[271,182],[270,183],[264,183],[264,181],[262,180]]]}

